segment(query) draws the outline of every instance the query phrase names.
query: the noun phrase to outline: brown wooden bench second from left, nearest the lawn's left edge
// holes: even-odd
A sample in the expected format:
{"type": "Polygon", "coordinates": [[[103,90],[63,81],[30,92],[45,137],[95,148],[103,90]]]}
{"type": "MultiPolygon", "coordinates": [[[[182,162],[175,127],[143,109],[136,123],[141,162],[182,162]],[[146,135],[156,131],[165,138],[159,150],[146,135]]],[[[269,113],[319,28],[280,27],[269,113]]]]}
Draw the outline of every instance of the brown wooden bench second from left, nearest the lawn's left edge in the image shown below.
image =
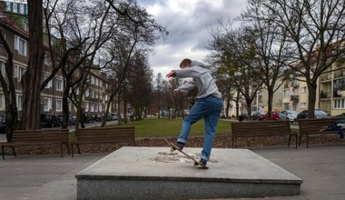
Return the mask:
{"type": "Polygon", "coordinates": [[[112,144],[130,142],[135,145],[135,130],[131,127],[116,128],[82,128],[76,133],[76,141],[72,145],[72,156],[74,156],[74,145],[80,155],[80,144],[112,144]]]}

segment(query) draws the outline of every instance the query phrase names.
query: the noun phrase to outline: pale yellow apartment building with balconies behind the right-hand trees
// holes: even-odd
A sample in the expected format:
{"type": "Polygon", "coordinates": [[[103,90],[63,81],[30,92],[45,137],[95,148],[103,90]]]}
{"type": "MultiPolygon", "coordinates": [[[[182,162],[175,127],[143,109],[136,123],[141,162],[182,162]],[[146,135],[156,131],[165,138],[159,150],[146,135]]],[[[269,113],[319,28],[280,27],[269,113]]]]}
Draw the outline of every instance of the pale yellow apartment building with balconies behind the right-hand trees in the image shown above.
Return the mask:
{"type": "MultiPolygon", "coordinates": [[[[345,113],[345,61],[338,61],[320,75],[318,80],[315,107],[327,112],[331,116],[345,113]]],[[[279,85],[279,83],[277,84],[279,85]]],[[[295,110],[301,112],[308,109],[308,86],[303,77],[293,77],[284,80],[281,87],[273,95],[272,110],[295,110]]],[[[251,111],[268,110],[267,90],[262,89],[251,103],[251,111]]],[[[245,102],[240,104],[240,115],[247,113],[245,102]]],[[[224,113],[226,106],[224,105],[224,113]]],[[[235,102],[231,102],[230,115],[236,115],[235,102]]]]}

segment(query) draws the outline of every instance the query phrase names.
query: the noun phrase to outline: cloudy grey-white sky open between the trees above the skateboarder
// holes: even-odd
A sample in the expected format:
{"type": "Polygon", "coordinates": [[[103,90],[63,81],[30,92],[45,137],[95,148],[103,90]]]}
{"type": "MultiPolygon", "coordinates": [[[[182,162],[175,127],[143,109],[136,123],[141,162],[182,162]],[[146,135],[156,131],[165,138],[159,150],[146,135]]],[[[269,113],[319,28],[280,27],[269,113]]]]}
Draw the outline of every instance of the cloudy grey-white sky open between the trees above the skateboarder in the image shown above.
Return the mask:
{"type": "Polygon", "coordinates": [[[202,61],[209,51],[212,27],[217,20],[234,18],[246,6],[246,0],[138,0],[154,20],[169,31],[159,40],[149,58],[153,75],[165,76],[179,67],[183,58],[202,61]]]}

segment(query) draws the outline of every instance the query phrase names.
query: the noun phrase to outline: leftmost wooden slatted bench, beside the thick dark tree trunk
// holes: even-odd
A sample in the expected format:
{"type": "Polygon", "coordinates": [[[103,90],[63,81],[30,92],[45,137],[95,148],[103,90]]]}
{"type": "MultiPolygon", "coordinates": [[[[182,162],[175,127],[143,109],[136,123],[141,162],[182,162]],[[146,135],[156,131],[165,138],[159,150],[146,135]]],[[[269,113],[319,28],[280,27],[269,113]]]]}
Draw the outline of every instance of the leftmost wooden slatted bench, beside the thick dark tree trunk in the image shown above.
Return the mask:
{"type": "Polygon", "coordinates": [[[70,149],[68,145],[68,129],[52,130],[15,130],[12,133],[11,142],[1,143],[3,159],[5,159],[5,146],[9,146],[15,154],[15,146],[24,145],[60,145],[61,156],[64,156],[63,145],[67,147],[68,155],[70,149]]]}

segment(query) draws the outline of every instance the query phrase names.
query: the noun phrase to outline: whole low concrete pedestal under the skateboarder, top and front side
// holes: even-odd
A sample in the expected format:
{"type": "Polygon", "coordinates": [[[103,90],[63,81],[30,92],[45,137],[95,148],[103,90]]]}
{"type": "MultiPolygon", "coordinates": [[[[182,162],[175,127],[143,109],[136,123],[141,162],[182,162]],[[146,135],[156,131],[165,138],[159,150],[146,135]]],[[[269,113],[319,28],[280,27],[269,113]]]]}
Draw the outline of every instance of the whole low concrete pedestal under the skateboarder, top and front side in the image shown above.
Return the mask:
{"type": "MultiPolygon", "coordinates": [[[[201,148],[183,149],[199,159],[201,148]]],[[[77,199],[212,199],[300,195],[301,178],[246,149],[212,149],[209,169],[169,147],[123,147],[77,178],[77,199]]]]}

